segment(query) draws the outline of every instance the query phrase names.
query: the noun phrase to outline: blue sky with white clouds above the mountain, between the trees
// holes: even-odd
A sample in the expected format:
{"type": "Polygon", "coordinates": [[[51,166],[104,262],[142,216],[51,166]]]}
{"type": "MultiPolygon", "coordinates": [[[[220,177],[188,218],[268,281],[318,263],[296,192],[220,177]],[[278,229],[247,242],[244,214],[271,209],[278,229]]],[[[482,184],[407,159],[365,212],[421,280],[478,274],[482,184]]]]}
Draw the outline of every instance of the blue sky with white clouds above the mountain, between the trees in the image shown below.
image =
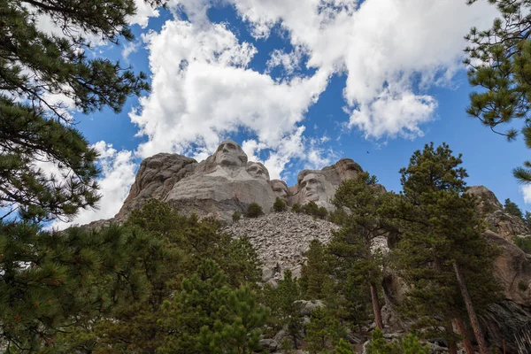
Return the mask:
{"type": "MultiPolygon", "coordinates": [[[[140,0],[139,0],[140,1],[140,0]]],[[[461,64],[469,27],[495,9],[464,0],[173,1],[139,8],[135,41],[96,47],[150,75],[153,90],[122,112],[74,114],[102,151],[99,212],[118,212],[142,158],[204,158],[230,137],[292,185],[304,167],[352,158],[387,189],[427,142],[463,154],[469,185],[527,209],[512,168],[528,158],[466,116],[461,64]],[[444,4],[442,4],[444,3],[444,4]],[[125,49],[129,47],[127,54],[125,49]],[[180,69],[181,68],[181,69],[180,69]]],[[[140,3],[139,3],[140,4],[140,3]]],[[[529,207],[531,209],[531,207],[529,207]]]]}

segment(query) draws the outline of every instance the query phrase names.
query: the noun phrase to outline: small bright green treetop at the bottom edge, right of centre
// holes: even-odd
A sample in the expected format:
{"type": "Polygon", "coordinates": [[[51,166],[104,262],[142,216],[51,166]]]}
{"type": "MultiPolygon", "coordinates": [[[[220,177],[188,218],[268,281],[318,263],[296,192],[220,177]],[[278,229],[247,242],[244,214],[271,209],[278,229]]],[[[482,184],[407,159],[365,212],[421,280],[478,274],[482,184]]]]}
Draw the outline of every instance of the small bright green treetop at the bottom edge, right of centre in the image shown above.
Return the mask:
{"type": "Polygon", "coordinates": [[[396,342],[386,342],[380,329],[373,330],[367,354],[429,354],[429,348],[415,335],[408,334],[396,342]]]}

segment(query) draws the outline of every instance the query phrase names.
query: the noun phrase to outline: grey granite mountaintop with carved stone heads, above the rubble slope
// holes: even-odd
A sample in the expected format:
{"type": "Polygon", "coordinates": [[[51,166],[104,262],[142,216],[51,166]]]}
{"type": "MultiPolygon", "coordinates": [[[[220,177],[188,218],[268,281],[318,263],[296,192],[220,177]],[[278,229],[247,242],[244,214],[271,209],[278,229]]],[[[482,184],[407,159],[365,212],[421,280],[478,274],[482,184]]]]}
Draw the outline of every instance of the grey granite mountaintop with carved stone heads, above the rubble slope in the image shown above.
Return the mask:
{"type": "Polygon", "coordinates": [[[321,170],[298,173],[296,185],[288,187],[285,181],[270,180],[265,165],[249,161],[237,142],[226,140],[199,163],[167,153],[146,158],[116,219],[126,219],[149,198],[161,199],[184,213],[222,220],[230,220],[234,212],[246,212],[253,202],[271,212],[277,196],[289,206],[314,202],[332,210],[335,189],[360,172],[357,163],[342,158],[321,170]]]}

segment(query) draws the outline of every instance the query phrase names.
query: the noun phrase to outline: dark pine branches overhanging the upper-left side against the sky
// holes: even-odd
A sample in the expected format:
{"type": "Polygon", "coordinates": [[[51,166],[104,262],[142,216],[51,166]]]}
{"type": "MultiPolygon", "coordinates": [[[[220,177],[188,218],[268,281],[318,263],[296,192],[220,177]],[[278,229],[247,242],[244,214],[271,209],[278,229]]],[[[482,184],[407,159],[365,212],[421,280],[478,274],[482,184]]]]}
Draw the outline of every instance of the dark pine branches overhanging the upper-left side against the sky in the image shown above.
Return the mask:
{"type": "Polygon", "coordinates": [[[0,208],[21,219],[72,219],[99,199],[97,153],[74,127],[65,104],[50,96],[62,94],[84,113],[105,106],[119,112],[127,96],[149,89],[144,73],[87,55],[89,42],[79,35],[81,28],[110,42],[120,36],[131,40],[127,17],[135,13],[135,2],[22,3],[4,0],[0,6],[0,36],[9,38],[0,45],[0,208]],[[37,27],[42,14],[62,35],[37,27]],[[61,172],[51,176],[36,161],[58,165],[61,172]]]}

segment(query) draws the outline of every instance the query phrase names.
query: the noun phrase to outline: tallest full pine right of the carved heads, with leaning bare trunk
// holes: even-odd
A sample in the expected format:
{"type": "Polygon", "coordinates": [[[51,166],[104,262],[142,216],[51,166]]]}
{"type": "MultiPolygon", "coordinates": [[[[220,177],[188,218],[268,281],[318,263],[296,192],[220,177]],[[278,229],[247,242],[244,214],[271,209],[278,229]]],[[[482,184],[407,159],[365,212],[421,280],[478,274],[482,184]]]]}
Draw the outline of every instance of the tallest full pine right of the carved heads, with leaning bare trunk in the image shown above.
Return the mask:
{"type": "Polygon", "coordinates": [[[402,219],[396,256],[399,273],[412,285],[404,306],[425,335],[443,335],[456,352],[452,320],[467,317],[482,353],[486,346],[476,311],[496,298],[492,275],[497,250],[481,237],[475,199],[463,194],[466,171],[448,145],[415,151],[403,168],[404,195],[396,199],[402,219]]]}

